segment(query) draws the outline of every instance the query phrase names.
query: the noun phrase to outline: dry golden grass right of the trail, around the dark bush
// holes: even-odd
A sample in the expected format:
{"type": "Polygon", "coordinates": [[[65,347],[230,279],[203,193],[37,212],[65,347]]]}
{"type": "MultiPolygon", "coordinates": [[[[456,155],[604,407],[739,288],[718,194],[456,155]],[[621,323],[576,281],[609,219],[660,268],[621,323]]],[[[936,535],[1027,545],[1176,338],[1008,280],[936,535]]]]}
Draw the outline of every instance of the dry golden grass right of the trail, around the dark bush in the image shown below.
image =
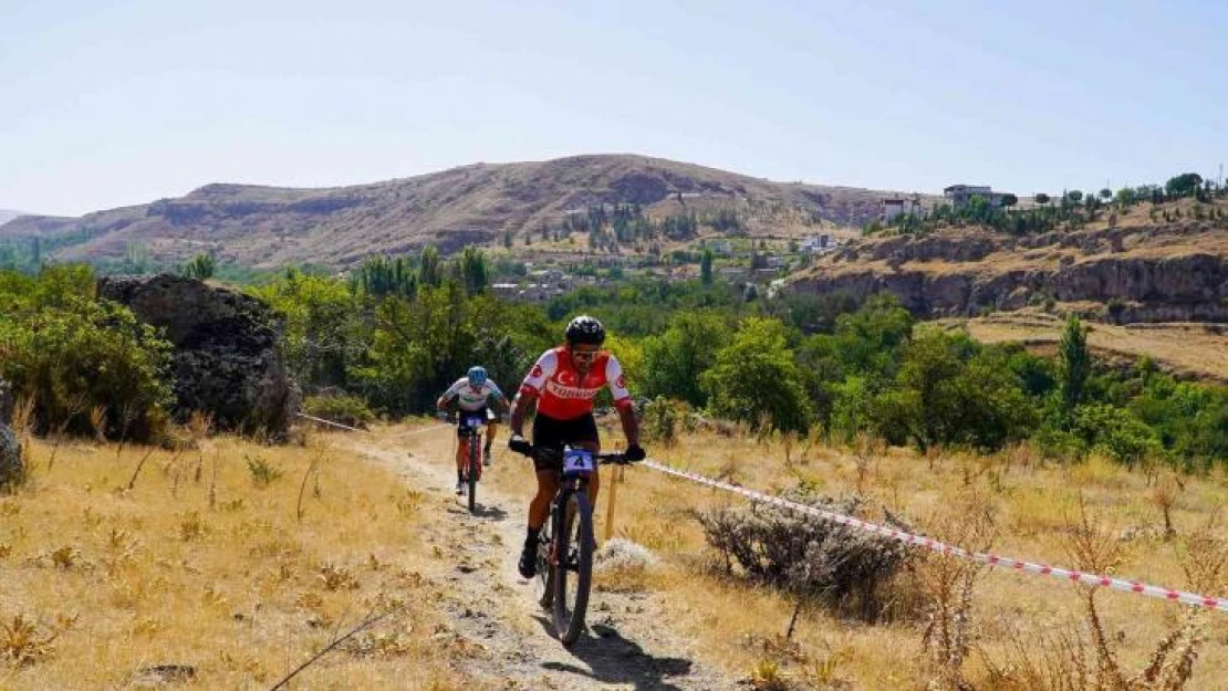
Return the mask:
{"type": "MultiPolygon", "coordinates": [[[[610,438],[616,437],[612,431],[610,438]]],[[[992,534],[993,549],[1000,554],[1062,566],[1076,566],[1068,547],[1077,541],[1081,507],[1090,507],[1117,547],[1120,561],[1105,565],[1113,566],[1114,574],[1173,587],[1189,587],[1184,555],[1205,552],[1207,545],[1222,549],[1228,540],[1222,523],[1208,527],[1205,522],[1228,487],[1222,471],[1205,479],[1184,479],[1185,490],[1172,501],[1165,498],[1175,531],[1172,540],[1165,540],[1154,484],[1143,473],[1131,474],[1099,458],[1071,468],[1046,466],[1023,447],[987,459],[955,453],[927,459],[888,449],[867,461],[865,449],[814,444],[803,446],[801,455],[795,446],[787,465],[781,441],[729,439],[711,433],[684,434],[673,449],[650,452],[658,460],[710,476],[732,476],[758,490],[806,484],[844,496],[862,488],[932,534],[950,534],[957,541],[963,541],[959,523],[950,520],[947,507],[968,506],[965,497],[974,493],[980,511],[992,515],[990,525],[996,525],[996,531],[977,528],[969,539],[979,544],[968,546],[984,547],[992,534]],[[941,518],[944,513],[946,522],[941,518]]],[[[600,502],[599,518],[605,515],[607,498],[600,502]]],[[[942,557],[935,557],[939,568],[931,566],[928,574],[900,579],[890,622],[866,625],[808,609],[785,650],[770,643],[783,639],[793,600],[725,576],[720,565],[711,563],[700,530],[688,518],[688,509],[740,501],[637,469],[626,474],[619,490],[614,533],[641,541],[663,557],[663,563],[640,585],[666,595],[672,617],[684,636],[696,639],[696,649],[706,650],[709,662],[732,675],[759,680],[760,687],[785,679],[795,689],[841,684],[917,689],[931,682],[954,687],[943,685],[948,681],[992,689],[1003,677],[993,676],[1001,669],[986,660],[1005,659],[1020,643],[1038,659],[1061,657],[1063,638],[1051,627],[1086,619],[1086,594],[1073,585],[989,569],[975,573],[973,588],[973,573],[944,571],[942,557]],[[944,599],[935,598],[935,593],[944,599]],[[922,632],[926,608],[933,606],[946,612],[948,630],[946,646],[931,647],[931,654],[922,647],[922,632]],[[966,628],[955,631],[950,626],[964,614],[966,628]],[[1022,641],[1020,632],[1025,632],[1022,641]],[[942,665],[936,671],[935,660],[955,652],[962,665],[959,675],[943,676],[942,665]],[[825,681],[815,681],[815,670],[825,681]]],[[[963,528],[976,527],[969,523],[963,528]]],[[[598,524],[598,534],[603,530],[598,524]]],[[[1219,583],[1211,592],[1226,594],[1224,571],[1212,576],[1218,581],[1202,581],[1219,583]]],[[[1146,669],[1157,641],[1180,630],[1186,614],[1180,606],[1111,590],[1099,593],[1095,604],[1124,670],[1146,669]]],[[[1186,687],[1228,689],[1228,617],[1207,612],[1203,623],[1203,647],[1186,687]]]]}

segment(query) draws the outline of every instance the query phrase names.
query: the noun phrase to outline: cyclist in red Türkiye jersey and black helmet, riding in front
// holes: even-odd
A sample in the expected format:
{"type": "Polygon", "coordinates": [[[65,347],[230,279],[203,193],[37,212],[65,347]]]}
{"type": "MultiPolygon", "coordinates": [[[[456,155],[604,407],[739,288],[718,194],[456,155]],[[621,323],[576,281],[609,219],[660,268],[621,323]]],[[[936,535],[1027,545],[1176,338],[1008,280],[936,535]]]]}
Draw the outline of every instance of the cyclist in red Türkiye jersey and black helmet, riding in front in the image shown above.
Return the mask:
{"type": "MultiPolygon", "coordinates": [[[[521,390],[512,403],[512,438],[507,447],[527,454],[533,447],[548,448],[570,444],[592,452],[600,450],[597,421],[593,420],[593,399],[602,387],[609,387],[626,436],[626,459],[643,460],[640,447],[640,426],[635,420],[631,394],[626,390],[623,366],[613,353],[602,350],[605,329],[588,315],[576,317],[567,324],[566,344],[542,353],[529,371],[521,390]],[[537,400],[537,417],[533,419],[533,443],[523,436],[524,414],[529,403],[537,400]]],[[[533,578],[537,573],[534,552],[538,533],[550,513],[550,498],[559,490],[561,460],[551,463],[534,457],[538,490],[529,502],[528,530],[518,563],[521,576],[533,578]]],[[[588,497],[597,506],[598,474],[588,481],[588,497]]]]}

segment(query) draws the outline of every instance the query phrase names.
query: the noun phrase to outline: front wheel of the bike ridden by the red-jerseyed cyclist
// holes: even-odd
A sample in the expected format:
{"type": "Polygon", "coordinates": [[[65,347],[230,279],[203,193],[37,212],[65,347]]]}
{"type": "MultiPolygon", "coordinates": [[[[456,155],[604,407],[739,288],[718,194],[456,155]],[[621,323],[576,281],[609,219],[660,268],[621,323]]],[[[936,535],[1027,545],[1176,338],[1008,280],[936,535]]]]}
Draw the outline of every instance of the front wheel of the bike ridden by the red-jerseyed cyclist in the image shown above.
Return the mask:
{"type": "Polygon", "coordinates": [[[564,646],[570,646],[585,628],[593,579],[593,514],[583,492],[567,496],[555,545],[559,566],[554,582],[554,631],[564,646]]]}

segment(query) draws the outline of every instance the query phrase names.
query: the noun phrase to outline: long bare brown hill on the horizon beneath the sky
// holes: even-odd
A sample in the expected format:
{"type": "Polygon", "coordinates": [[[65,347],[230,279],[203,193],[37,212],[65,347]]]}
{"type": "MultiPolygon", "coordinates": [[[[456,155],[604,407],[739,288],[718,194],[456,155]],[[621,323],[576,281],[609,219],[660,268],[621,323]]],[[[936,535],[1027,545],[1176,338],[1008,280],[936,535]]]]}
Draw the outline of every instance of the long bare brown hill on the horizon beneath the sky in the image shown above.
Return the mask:
{"type": "Polygon", "coordinates": [[[496,244],[558,225],[591,204],[640,204],[652,214],[678,205],[732,209],[752,234],[804,232],[815,222],[860,226],[888,193],[774,183],[630,155],[535,163],[465,166],[405,179],[329,189],[210,184],[177,199],[88,214],[29,216],[0,226],[0,238],[54,241],[53,257],[123,257],[141,243],[151,259],[182,260],[212,249],[222,261],[346,266],[376,252],[435,243],[496,244]]]}

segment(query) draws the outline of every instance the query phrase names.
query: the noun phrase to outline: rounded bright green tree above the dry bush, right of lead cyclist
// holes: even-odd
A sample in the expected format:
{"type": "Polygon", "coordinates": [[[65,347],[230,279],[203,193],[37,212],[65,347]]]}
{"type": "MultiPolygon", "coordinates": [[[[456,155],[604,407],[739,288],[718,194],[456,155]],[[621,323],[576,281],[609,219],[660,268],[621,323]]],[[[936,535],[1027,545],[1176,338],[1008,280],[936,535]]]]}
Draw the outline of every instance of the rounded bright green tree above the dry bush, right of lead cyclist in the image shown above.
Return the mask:
{"type": "Polygon", "coordinates": [[[810,403],[785,325],[775,319],[747,319],[733,341],[717,351],[700,387],[712,414],[747,422],[753,430],[763,423],[781,431],[809,426],[810,403]]]}

